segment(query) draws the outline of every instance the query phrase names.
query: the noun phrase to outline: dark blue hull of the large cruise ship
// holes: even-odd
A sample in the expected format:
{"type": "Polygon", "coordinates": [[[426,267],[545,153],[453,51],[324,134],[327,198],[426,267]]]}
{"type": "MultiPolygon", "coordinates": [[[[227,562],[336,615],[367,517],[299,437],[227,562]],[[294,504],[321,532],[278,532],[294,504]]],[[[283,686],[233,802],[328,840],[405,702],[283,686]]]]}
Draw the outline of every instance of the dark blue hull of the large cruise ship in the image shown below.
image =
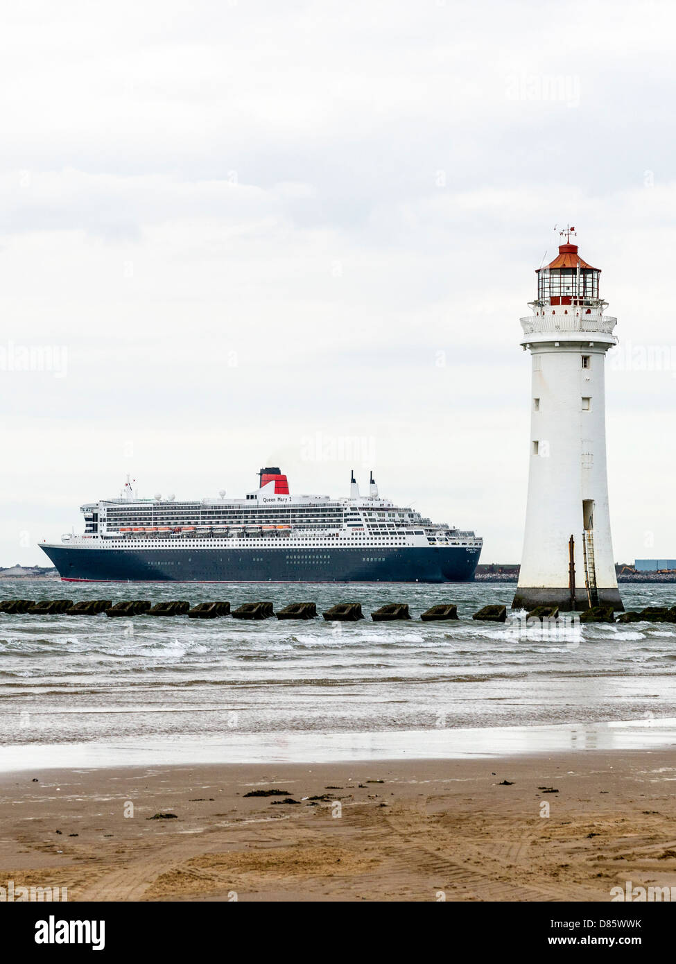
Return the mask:
{"type": "Polygon", "coordinates": [[[468,582],[464,547],[80,549],[41,546],[62,579],[84,582],[468,582]]]}

